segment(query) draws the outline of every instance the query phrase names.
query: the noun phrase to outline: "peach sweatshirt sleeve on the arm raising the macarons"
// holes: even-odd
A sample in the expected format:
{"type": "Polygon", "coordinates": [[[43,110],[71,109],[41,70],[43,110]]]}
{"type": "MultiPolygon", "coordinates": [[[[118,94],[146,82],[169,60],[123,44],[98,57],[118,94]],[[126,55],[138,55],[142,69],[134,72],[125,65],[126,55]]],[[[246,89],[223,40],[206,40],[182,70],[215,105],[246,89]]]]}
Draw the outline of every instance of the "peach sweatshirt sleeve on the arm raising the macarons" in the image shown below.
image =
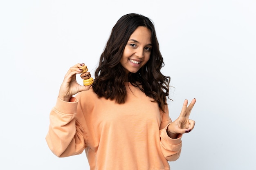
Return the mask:
{"type": "Polygon", "coordinates": [[[49,130],[46,135],[47,145],[58,157],[78,155],[85,149],[83,128],[76,123],[78,100],[65,102],[57,99],[56,105],[50,112],[49,130]]]}

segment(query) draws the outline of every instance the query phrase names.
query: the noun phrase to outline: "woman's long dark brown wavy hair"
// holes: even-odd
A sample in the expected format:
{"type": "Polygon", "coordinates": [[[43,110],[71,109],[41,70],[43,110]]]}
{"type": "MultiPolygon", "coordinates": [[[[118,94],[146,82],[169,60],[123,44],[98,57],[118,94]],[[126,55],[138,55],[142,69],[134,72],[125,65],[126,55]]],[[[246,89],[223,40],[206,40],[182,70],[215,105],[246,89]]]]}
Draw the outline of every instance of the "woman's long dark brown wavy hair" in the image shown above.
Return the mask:
{"type": "Polygon", "coordinates": [[[170,77],[164,76],[160,70],[164,66],[163,57],[159,51],[155,26],[143,15],[130,13],[122,16],[112,29],[110,38],[101,54],[99,66],[95,71],[93,91],[99,97],[115,100],[119,104],[126,101],[127,80],[157,102],[164,111],[164,105],[169,95],[170,77]],[[120,60],[130,35],[138,26],[145,26],[151,31],[152,49],[148,62],[137,73],[126,74],[120,60]]]}

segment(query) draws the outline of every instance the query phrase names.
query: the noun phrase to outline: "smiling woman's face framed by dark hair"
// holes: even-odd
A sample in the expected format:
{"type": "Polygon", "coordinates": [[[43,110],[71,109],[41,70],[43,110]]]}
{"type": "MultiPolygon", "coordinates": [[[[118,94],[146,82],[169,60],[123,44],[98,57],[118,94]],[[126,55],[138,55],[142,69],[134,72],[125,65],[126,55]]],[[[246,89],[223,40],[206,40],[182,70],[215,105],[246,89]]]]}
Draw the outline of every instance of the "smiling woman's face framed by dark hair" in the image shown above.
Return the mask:
{"type": "Polygon", "coordinates": [[[151,49],[151,31],[145,26],[138,26],[130,36],[120,60],[126,73],[139,71],[148,62],[151,49]]]}

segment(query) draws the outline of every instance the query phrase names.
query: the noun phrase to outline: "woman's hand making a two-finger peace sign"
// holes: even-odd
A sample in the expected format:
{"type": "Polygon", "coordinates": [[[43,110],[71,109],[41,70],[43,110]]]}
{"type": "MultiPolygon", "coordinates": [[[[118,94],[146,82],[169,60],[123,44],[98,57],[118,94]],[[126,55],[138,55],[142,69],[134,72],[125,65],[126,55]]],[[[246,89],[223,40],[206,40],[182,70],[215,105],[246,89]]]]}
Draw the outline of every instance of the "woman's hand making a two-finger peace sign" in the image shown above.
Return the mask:
{"type": "Polygon", "coordinates": [[[195,102],[196,99],[193,99],[188,106],[188,100],[185,99],[180,116],[167,128],[167,134],[169,137],[175,139],[179,136],[179,134],[188,133],[193,130],[195,121],[189,119],[189,115],[195,102]]]}

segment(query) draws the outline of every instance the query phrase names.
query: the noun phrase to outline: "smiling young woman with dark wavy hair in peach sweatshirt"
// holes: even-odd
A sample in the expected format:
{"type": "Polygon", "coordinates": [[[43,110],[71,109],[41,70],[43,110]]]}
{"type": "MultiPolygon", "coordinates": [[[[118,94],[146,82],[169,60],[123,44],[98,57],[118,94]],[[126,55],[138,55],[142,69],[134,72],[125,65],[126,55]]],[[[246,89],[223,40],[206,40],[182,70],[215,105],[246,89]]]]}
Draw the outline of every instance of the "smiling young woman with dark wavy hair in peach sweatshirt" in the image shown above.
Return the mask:
{"type": "Polygon", "coordinates": [[[155,28],[143,15],[122,16],[112,29],[92,86],[81,86],[72,66],[50,113],[46,140],[58,157],[85,150],[91,170],[169,170],[181,152],[182,134],[195,121],[195,99],[184,101],[171,121],[167,106],[170,77],[155,28]],[[73,97],[75,95],[75,97],[73,97]]]}

